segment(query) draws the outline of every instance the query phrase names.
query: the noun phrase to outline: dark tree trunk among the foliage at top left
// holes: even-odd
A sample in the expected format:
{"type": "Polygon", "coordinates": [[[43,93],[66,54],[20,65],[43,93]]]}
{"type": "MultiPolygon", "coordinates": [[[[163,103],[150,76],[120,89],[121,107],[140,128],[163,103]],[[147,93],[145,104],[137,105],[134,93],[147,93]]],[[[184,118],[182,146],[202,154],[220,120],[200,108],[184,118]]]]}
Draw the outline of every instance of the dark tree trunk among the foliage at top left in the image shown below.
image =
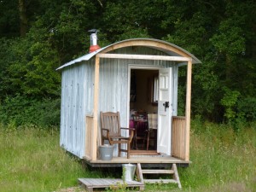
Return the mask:
{"type": "Polygon", "coordinates": [[[27,32],[27,15],[26,15],[26,0],[19,0],[19,11],[20,11],[20,36],[24,37],[27,32]]]}

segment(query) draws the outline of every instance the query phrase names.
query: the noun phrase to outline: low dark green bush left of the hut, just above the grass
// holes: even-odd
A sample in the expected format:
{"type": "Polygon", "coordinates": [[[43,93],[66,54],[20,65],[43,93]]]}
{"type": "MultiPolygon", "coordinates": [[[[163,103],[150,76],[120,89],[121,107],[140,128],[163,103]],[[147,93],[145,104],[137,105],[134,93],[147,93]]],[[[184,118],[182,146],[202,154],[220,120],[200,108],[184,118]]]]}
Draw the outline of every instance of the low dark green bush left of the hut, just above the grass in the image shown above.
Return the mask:
{"type": "Polygon", "coordinates": [[[59,125],[60,106],[60,99],[39,101],[20,95],[6,97],[0,105],[0,119],[5,125],[59,125]]]}

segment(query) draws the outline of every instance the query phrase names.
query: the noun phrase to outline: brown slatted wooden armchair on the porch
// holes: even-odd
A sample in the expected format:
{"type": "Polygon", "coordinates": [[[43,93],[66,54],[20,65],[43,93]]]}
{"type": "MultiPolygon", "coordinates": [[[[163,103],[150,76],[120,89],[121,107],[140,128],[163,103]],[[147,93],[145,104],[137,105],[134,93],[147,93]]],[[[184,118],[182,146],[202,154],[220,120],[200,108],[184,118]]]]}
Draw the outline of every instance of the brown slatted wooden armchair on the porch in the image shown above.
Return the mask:
{"type": "Polygon", "coordinates": [[[131,140],[133,137],[133,128],[120,127],[119,112],[101,112],[101,125],[102,125],[102,145],[105,140],[108,140],[110,145],[119,144],[119,156],[121,152],[127,153],[127,158],[130,158],[131,140]],[[129,130],[129,136],[121,136],[121,130],[129,130]],[[127,144],[127,149],[121,148],[121,144],[127,144]]]}

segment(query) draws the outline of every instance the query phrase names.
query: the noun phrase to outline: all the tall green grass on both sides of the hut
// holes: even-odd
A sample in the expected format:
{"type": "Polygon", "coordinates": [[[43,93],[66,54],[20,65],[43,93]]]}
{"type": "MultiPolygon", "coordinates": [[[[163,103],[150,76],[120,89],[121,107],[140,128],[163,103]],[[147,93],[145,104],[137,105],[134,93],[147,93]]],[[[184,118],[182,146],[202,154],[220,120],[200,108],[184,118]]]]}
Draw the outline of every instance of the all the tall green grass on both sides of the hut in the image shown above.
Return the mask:
{"type": "MultiPolygon", "coordinates": [[[[188,168],[178,168],[182,191],[256,191],[256,127],[192,121],[188,168]]],[[[113,177],[85,166],[59,147],[59,131],[0,125],[0,191],[60,191],[79,177],[113,177]]],[[[147,184],[146,191],[180,191],[147,184]]]]}

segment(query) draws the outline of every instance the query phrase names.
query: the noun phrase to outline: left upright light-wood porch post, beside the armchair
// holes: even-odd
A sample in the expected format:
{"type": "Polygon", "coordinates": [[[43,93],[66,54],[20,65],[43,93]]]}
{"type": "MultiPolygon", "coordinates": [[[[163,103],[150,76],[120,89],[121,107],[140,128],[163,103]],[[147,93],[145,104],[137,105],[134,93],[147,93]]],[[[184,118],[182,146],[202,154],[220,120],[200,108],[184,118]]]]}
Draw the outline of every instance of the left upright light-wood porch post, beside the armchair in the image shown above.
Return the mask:
{"type": "Polygon", "coordinates": [[[91,139],[91,159],[96,160],[97,151],[97,132],[98,132],[98,98],[99,98],[99,73],[100,58],[96,55],[94,73],[94,103],[93,103],[93,128],[91,139]]]}

